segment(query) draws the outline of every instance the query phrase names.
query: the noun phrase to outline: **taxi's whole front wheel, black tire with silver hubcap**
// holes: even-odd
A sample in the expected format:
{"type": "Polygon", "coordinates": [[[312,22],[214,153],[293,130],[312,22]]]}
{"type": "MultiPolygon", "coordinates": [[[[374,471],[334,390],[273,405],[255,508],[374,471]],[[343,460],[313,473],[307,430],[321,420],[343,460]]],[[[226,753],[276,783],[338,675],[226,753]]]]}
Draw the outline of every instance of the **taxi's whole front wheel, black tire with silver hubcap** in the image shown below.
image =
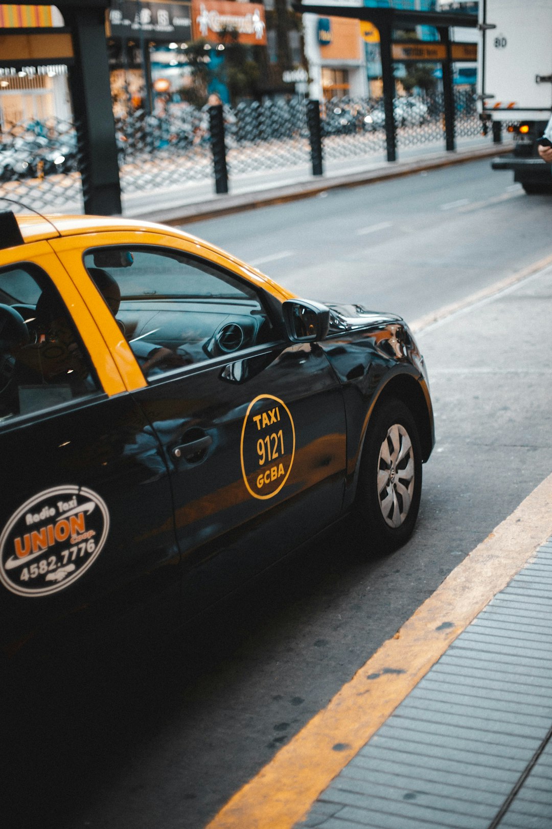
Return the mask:
{"type": "Polygon", "coordinates": [[[421,488],[415,419],[401,400],[386,400],[368,425],[358,480],[357,516],[371,552],[385,555],[408,541],[421,488]]]}

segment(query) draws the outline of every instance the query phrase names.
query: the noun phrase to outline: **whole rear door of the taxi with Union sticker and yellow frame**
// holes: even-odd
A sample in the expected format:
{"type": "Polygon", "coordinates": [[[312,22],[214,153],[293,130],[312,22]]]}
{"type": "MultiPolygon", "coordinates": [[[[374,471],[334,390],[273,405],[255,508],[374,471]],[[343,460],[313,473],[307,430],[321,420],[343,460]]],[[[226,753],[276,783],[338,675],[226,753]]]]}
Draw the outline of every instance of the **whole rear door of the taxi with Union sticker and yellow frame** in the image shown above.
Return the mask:
{"type": "Polygon", "coordinates": [[[176,598],[163,453],[46,242],[0,250],[0,314],[2,644],[108,597],[117,613],[176,598]]]}

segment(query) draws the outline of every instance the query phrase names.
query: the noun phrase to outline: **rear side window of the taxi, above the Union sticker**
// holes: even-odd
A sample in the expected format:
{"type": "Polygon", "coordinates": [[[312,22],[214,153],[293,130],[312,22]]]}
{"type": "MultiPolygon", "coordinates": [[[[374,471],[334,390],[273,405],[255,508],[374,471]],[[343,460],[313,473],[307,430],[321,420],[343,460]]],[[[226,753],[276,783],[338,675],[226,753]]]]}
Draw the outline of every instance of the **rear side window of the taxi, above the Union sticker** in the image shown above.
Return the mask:
{"type": "Polygon", "coordinates": [[[49,277],[0,270],[0,426],[99,390],[89,355],[49,277]]]}

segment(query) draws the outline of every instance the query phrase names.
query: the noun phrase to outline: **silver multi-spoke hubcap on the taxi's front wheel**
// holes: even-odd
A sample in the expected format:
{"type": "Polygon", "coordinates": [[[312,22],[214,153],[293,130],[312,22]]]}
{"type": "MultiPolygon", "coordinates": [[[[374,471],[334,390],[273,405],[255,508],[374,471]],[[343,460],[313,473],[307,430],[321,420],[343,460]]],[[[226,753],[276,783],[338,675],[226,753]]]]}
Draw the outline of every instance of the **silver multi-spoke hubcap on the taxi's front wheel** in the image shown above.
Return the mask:
{"type": "Polygon", "coordinates": [[[399,527],[414,494],[414,452],[410,437],[401,424],[387,431],[377,463],[377,496],[386,524],[399,527]]]}

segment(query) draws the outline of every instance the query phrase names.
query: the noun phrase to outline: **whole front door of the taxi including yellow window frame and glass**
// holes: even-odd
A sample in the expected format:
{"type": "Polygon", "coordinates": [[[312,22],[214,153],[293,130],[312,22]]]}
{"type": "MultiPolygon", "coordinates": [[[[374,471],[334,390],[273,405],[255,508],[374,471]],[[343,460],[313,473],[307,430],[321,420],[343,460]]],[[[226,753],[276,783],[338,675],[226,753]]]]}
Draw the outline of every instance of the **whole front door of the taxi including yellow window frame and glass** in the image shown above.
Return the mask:
{"type": "Polygon", "coordinates": [[[113,356],[163,448],[186,614],[337,518],[341,387],[319,346],[276,334],[262,279],[199,240],[161,230],[100,231],[84,252],[70,237],[52,246],[85,299],[97,294],[85,269],[118,284],[116,316],[105,304],[96,318],[118,341],[113,356]],[[167,352],[167,366],[147,356],[167,352]]]}

